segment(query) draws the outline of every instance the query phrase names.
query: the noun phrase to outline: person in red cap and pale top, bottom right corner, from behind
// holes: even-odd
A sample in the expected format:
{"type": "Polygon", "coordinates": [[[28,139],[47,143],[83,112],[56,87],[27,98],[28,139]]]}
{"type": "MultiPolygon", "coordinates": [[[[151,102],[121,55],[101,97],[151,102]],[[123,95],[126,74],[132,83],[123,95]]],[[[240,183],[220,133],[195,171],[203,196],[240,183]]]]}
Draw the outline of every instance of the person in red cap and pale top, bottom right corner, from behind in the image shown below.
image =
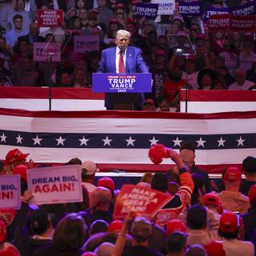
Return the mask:
{"type": "Polygon", "coordinates": [[[239,223],[237,214],[225,212],[220,218],[219,234],[223,238],[222,244],[226,256],[254,256],[254,245],[251,242],[239,241],[239,223]]]}

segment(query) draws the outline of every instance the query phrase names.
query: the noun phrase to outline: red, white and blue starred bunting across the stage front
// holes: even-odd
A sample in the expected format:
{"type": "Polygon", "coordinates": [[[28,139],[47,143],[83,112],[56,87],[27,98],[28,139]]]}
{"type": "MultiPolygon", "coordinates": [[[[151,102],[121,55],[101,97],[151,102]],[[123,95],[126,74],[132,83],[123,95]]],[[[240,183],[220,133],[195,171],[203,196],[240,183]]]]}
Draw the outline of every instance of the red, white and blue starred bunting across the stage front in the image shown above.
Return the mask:
{"type": "Polygon", "coordinates": [[[101,169],[166,170],[154,166],[155,143],[196,147],[196,163],[209,171],[256,155],[256,112],[182,114],[139,111],[27,111],[0,109],[0,158],[18,148],[34,162],[93,160],[101,169]]]}

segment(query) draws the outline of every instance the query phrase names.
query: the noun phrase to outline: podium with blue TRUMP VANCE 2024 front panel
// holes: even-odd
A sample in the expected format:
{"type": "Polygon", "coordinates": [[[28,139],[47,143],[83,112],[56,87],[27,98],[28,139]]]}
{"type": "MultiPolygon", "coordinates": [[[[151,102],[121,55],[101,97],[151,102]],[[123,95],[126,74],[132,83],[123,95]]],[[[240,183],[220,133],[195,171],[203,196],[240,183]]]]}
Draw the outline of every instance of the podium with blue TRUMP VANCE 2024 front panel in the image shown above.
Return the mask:
{"type": "Polygon", "coordinates": [[[94,73],[93,92],[105,93],[108,110],[136,110],[142,93],[151,92],[151,80],[150,73],[94,73]]]}

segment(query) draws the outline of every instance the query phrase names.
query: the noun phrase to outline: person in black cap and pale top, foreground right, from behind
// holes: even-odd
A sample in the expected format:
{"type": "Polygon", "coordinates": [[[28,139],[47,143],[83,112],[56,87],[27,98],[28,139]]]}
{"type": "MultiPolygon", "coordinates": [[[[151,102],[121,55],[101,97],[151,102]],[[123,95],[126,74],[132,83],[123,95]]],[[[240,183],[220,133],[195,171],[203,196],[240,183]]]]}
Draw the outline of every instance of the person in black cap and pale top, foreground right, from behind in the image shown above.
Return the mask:
{"type": "Polygon", "coordinates": [[[187,210],[186,225],[189,229],[187,244],[193,246],[206,245],[211,241],[206,232],[207,211],[205,207],[194,205],[187,210]]]}

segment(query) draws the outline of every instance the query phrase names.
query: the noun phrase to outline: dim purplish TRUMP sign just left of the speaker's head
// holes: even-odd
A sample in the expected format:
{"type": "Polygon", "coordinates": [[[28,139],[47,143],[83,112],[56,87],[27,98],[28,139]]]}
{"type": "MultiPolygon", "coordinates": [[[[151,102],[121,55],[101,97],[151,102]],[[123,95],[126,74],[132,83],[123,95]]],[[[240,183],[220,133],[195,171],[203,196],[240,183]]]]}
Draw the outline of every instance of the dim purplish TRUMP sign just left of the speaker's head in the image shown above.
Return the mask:
{"type": "Polygon", "coordinates": [[[98,35],[75,35],[74,52],[84,53],[86,51],[99,50],[98,35]]]}

